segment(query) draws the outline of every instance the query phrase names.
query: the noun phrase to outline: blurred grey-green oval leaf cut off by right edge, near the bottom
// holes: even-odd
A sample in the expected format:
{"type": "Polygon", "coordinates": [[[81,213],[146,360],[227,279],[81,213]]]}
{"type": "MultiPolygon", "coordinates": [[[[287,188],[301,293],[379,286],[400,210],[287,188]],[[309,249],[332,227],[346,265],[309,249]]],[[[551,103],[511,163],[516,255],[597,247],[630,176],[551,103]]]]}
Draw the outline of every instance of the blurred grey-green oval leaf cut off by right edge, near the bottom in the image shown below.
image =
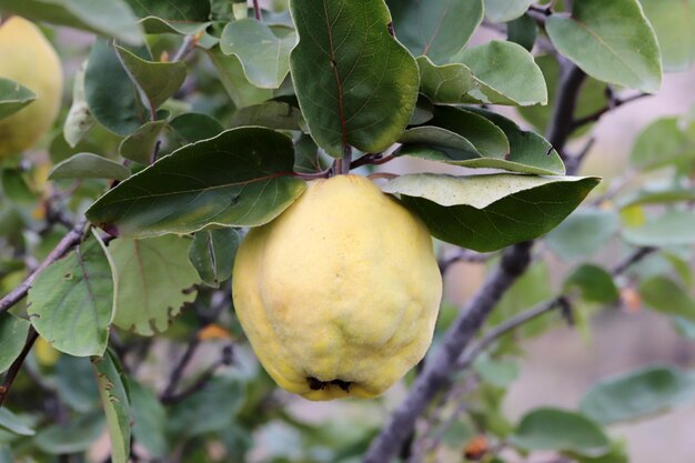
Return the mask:
{"type": "Polygon", "coordinates": [[[637,369],[594,384],[584,399],[582,412],[603,424],[652,417],[689,403],[695,376],[666,364],[637,369]]]}

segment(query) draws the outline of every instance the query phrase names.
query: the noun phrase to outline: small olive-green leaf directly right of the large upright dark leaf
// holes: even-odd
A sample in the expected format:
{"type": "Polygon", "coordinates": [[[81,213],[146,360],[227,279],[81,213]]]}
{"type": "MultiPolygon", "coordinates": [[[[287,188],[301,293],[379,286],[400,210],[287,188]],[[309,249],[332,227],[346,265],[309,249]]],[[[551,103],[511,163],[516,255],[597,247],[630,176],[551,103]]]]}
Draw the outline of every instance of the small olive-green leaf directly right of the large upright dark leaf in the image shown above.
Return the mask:
{"type": "Polygon", "coordinates": [[[436,66],[430,58],[420,57],[417,69],[420,69],[420,92],[433,103],[466,102],[467,92],[475,88],[471,70],[464,64],[436,66]]]}

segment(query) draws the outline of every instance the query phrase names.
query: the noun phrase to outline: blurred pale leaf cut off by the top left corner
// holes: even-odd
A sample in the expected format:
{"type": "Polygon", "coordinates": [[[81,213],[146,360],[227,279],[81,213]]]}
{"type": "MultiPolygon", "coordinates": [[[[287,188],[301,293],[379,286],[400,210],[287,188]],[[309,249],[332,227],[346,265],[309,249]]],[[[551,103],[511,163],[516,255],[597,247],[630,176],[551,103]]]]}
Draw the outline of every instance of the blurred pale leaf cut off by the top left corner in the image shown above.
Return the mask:
{"type": "Polygon", "coordinates": [[[123,0],[0,0],[0,11],[142,43],[138,18],[123,0]]]}

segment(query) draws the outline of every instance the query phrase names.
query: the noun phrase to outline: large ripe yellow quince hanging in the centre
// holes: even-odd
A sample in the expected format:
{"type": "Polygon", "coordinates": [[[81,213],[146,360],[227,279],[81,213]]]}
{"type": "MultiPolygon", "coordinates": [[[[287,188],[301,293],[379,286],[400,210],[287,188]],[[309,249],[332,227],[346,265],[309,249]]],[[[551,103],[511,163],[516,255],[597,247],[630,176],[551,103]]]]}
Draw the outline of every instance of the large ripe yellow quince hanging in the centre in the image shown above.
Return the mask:
{"type": "Polygon", "coordinates": [[[369,179],[338,175],[249,232],[232,293],[280,386],[311,400],[373,397],[424,356],[442,279],[417,218],[369,179]]]}

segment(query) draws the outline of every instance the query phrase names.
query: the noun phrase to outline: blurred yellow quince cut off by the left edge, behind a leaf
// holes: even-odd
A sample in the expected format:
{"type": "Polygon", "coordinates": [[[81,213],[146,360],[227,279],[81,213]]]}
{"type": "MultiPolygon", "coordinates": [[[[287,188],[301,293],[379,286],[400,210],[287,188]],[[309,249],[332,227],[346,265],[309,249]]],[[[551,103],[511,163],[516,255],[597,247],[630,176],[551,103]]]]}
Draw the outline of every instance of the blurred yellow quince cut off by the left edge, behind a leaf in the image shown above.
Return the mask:
{"type": "Polygon", "coordinates": [[[63,77],[60,59],[39,28],[20,17],[0,26],[0,77],[36,93],[37,99],[0,120],[0,161],[32,147],[56,121],[63,77]]]}

